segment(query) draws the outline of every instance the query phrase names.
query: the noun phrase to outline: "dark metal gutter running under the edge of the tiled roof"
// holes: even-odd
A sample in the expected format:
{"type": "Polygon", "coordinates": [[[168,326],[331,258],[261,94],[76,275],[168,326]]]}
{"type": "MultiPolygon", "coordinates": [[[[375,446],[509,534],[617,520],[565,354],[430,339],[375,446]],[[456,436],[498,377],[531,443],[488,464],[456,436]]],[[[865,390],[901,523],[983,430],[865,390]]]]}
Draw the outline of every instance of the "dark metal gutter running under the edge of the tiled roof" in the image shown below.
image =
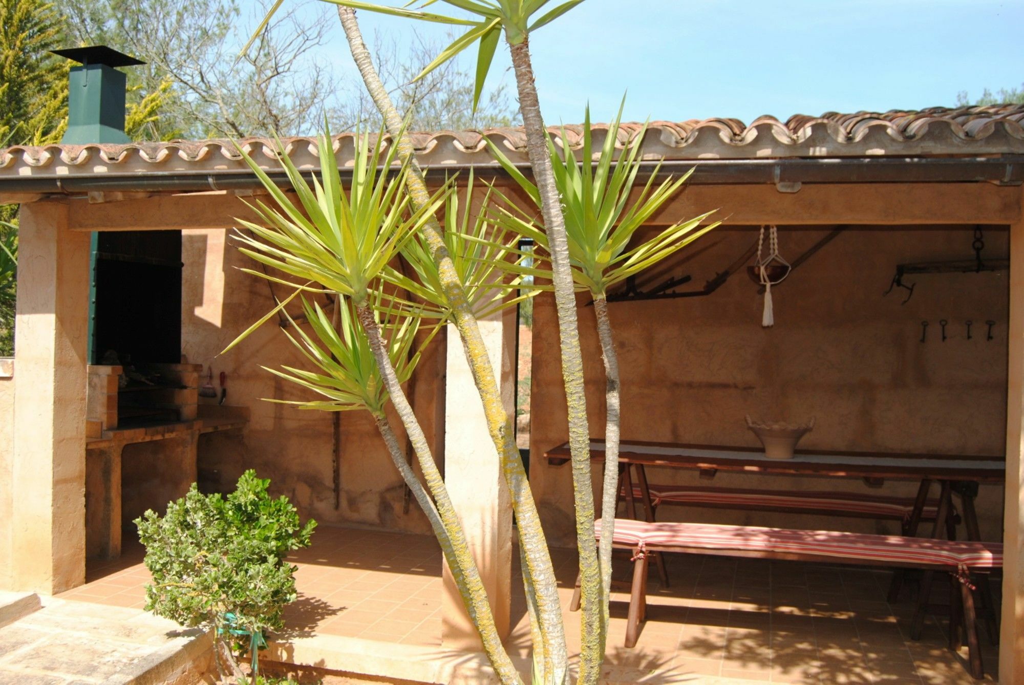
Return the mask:
{"type": "MultiPolygon", "coordinates": [[[[518,165],[529,171],[526,164],[518,165]]],[[[655,162],[642,163],[640,175],[649,177],[655,162]]],[[[477,176],[510,181],[497,164],[452,164],[425,167],[427,178],[442,181],[457,172],[473,169],[477,176]]],[[[796,191],[802,183],[929,183],[992,182],[1024,183],[1024,155],[962,158],[813,158],[765,160],[667,160],[657,175],[678,175],[693,169],[689,183],[773,184],[782,191],[796,191]]],[[[342,179],[351,169],[342,168],[342,179]]],[[[284,172],[269,172],[279,185],[288,186],[284,172]]],[[[245,190],[261,187],[249,171],[136,172],[131,174],[65,174],[60,176],[0,176],[0,199],[6,192],[63,194],[124,191],[245,190]]]]}

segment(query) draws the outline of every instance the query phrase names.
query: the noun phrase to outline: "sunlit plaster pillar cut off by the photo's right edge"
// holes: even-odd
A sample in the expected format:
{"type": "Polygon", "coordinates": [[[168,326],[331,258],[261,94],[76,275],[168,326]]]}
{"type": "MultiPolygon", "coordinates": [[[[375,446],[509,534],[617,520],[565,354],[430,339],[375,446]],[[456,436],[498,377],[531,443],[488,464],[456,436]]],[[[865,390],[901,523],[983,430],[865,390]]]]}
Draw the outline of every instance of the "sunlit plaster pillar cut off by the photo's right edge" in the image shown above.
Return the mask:
{"type": "Polygon", "coordinates": [[[1019,683],[1024,682],[1024,217],[1010,224],[1009,335],[999,682],[1019,683]]]}

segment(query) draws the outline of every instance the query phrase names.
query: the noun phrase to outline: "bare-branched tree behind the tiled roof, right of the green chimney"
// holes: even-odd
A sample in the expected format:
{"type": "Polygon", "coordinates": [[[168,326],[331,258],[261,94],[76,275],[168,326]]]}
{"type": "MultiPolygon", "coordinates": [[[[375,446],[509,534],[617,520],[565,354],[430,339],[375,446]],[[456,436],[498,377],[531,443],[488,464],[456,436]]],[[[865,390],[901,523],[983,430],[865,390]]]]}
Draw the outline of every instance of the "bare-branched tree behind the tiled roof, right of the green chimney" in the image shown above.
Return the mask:
{"type": "MultiPolygon", "coordinates": [[[[376,126],[373,103],[316,61],[330,24],[296,4],[268,22],[241,57],[245,32],[265,11],[265,2],[237,0],[69,0],[73,41],[105,44],[146,62],[129,71],[131,101],[164,88],[159,118],[144,137],[243,137],[300,135],[318,130],[325,119],[336,130],[376,126]]],[[[435,45],[425,42],[399,60],[399,46],[381,53],[389,89],[403,109],[415,110],[422,130],[507,125],[514,120],[502,89],[473,112],[473,77],[451,65],[430,81],[412,83],[435,45]]]]}

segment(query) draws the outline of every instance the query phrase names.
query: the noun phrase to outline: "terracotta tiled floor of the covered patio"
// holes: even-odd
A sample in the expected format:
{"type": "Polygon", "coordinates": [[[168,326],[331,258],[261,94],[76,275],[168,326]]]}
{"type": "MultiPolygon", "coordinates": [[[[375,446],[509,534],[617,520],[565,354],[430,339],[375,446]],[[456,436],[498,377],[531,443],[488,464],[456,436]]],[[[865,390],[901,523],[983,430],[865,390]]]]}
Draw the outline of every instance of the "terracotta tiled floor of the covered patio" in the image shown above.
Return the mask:
{"type": "MultiPolygon", "coordinates": [[[[286,612],[291,634],[440,644],[441,561],[433,539],[321,526],[313,540],[294,559],[300,598],[286,612]]],[[[141,606],[148,575],[140,560],[138,545],[127,545],[120,560],[90,567],[89,583],[62,597],[141,606]]],[[[579,645],[579,614],[567,612],[574,554],[555,550],[553,560],[567,637],[579,645]]],[[[886,602],[886,571],[678,555],[668,561],[672,587],[659,590],[652,572],[648,620],[633,649],[623,647],[628,595],[612,597],[608,682],[975,682],[966,650],[954,655],[945,647],[944,618],[929,616],[922,640],[909,640],[913,603],[886,602]]],[[[628,577],[628,560],[617,570],[628,577]]],[[[513,588],[509,645],[525,654],[522,591],[513,588]]],[[[984,631],[982,644],[991,682],[997,653],[984,631]]]]}

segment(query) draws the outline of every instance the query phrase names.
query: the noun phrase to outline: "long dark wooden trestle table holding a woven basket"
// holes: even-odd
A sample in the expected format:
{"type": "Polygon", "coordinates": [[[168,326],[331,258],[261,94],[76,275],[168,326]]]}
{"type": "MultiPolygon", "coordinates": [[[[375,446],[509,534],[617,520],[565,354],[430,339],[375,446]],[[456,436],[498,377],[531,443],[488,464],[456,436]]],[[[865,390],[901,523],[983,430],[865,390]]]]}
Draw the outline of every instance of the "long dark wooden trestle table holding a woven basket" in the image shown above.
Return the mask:
{"type": "MultiPolygon", "coordinates": [[[[955,537],[952,512],[952,493],[961,496],[964,506],[964,524],[967,539],[980,541],[978,516],[974,507],[978,483],[1001,483],[1006,478],[1006,459],[1000,457],[979,457],[970,455],[934,455],[886,452],[840,452],[825,449],[797,449],[793,459],[768,459],[758,447],[736,447],[711,444],[679,444],[671,442],[647,442],[624,440],[620,444],[618,462],[621,473],[625,472],[627,483],[628,510],[634,511],[633,486],[629,469],[636,471],[647,519],[653,520],[650,493],[647,488],[646,468],[648,466],[696,470],[702,478],[714,478],[719,471],[738,473],[763,473],[770,475],[799,475],[840,478],[860,478],[871,487],[880,487],[887,479],[919,481],[918,496],[907,525],[907,533],[916,534],[921,513],[928,501],[933,481],[940,484],[939,508],[931,537],[945,533],[955,537]]],[[[553,466],[569,461],[568,443],[558,445],[544,453],[544,458],[553,466]]],[[[591,440],[591,461],[604,462],[604,441],[591,440]]],[[[632,514],[635,516],[635,514],[632,514]]],[[[664,569],[660,569],[664,573],[664,569]]],[[[901,574],[897,573],[890,588],[890,601],[895,601],[899,593],[901,574]]],[[[931,571],[926,572],[922,595],[928,597],[932,584],[931,571]]],[[[989,620],[994,613],[991,595],[984,588],[983,604],[989,620]]],[[[924,620],[925,603],[919,604],[919,611],[911,624],[911,637],[918,639],[924,620]]],[[[994,632],[994,628],[990,628],[994,632]]]]}

